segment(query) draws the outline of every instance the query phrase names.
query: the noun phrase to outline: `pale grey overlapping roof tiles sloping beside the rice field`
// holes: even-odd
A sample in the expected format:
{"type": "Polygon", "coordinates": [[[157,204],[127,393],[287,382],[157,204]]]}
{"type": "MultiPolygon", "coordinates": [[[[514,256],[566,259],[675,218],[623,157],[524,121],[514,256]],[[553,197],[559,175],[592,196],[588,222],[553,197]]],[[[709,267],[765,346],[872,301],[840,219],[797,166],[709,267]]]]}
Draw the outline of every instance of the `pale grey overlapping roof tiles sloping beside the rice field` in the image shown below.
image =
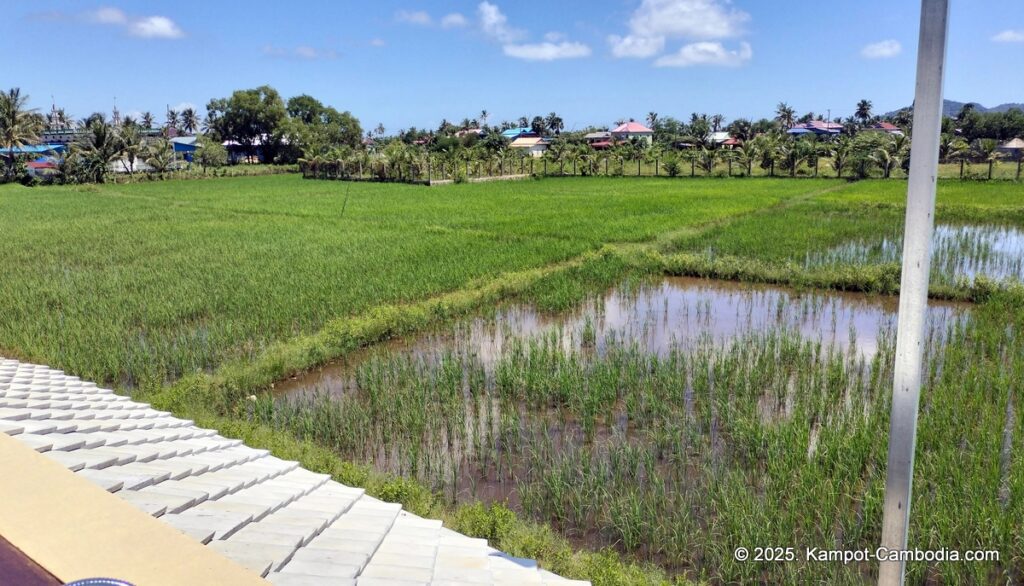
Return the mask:
{"type": "Polygon", "coordinates": [[[583,584],[45,366],[0,359],[0,432],[274,584],[583,584]]]}

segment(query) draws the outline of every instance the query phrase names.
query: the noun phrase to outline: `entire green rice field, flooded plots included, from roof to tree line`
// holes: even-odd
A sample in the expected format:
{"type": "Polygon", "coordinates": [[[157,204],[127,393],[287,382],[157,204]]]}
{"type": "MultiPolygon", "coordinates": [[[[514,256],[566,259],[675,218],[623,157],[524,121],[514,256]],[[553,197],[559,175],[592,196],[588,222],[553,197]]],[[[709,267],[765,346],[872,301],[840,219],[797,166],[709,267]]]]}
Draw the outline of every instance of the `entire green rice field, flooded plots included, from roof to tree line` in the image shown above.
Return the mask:
{"type": "MultiPolygon", "coordinates": [[[[0,186],[0,355],[605,584],[861,584],[905,182],[0,186]],[[795,547],[746,561],[736,547],[795,547]]],[[[910,584],[1024,582],[1024,185],[939,183],[910,584]]]]}

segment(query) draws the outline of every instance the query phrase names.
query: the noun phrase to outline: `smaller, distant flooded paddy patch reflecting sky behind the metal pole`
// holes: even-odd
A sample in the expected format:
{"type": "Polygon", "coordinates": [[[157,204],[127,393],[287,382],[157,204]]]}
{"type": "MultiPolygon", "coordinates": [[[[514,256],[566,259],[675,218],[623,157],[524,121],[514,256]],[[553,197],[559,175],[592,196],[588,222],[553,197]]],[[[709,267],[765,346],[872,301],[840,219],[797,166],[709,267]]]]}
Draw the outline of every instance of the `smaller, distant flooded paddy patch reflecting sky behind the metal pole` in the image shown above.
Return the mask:
{"type": "MultiPolygon", "coordinates": [[[[902,252],[903,239],[893,234],[809,253],[804,265],[899,263],[902,252]]],[[[1024,232],[997,224],[936,225],[932,238],[932,279],[952,284],[957,280],[970,283],[979,277],[1024,282],[1024,232]]]]}

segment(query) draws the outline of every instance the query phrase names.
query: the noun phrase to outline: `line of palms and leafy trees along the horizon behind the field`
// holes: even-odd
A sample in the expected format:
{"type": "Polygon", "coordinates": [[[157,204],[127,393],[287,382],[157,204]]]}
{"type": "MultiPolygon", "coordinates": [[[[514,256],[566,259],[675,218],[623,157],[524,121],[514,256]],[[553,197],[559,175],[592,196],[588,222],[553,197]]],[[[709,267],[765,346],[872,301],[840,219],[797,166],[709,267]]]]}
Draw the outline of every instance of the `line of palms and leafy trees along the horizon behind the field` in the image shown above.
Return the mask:
{"type": "MultiPolygon", "coordinates": [[[[872,112],[867,99],[859,100],[849,116],[836,118],[813,112],[798,116],[792,107],[780,102],[773,118],[759,120],[738,118],[727,122],[720,114],[698,113],[680,120],[650,112],[644,119],[653,131],[649,144],[643,140],[617,141],[606,152],[596,152],[585,136],[607,131],[607,127],[566,130],[563,118],[555,112],[492,125],[488,112],[483,110],[459,123],[442,120],[436,129],[413,127],[387,135],[383,125],[378,124],[364,135],[359,120],[351,113],[306,94],[286,100],[267,85],[213,98],[206,110],[203,117],[191,108],[181,112],[169,109],[163,123],[157,123],[151,113],[142,113],[137,120],[127,116],[108,119],[102,113],[94,113],[74,121],[62,110],[54,109],[50,116],[39,114],[28,108],[28,96],[13,88],[0,94],[0,154],[7,152],[3,177],[13,180],[24,176],[18,157],[14,156],[18,146],[38,142],[44,131],[59,129],[74,130],[76,139],[57,158],[57,180],[101,182],[112,169],[134,174],[138,167],[159,175],[180,165],[168,141],[180,135],[197,135],[194,162],[204,170],[233,161],[222,146],[227,144],[236,157],[258,157],[273,163],[335,162],[346,169],[376,168],[386,172],[402,166],[423,171],[425,164],[418,161],[429,159],[436,160],[441,169],[462,163],[471,173],[473,165],[501,165],[522,155],[510,149],[510,139],[502,135],[510,128],[546,137],[545,161],[559,166],[569,163],[583,173],[597,172],[600,161],[605,161],[603,170],[611,172],[609,158],[657,161],[659,167],[664,164],[667,174],[684,172],[686,166],[691,173],[697,169],[710,173],[716,165],[726,164],[730,175],[734,166],[745,174],[751,174],[755,166],[772,175],[796,175],[802,168],[813,168],[817,174],[820,161],[826,160],[837,176],[868,176],[874,172],[888,177],[894,170],[907,167],[907,136],[912,130],[911,110],[882,117],[872,112]],[[794,125],[814,121],[831,123],[838,133],[787,133],[794,125]],[[881,122],[889,122],[901,132],[876,131],[873,127],[881,122]],[[725,144],[723,133],[733,140],[725,144]]],[[[615,125],[626,121],[615,121],[615,125]]],[[[1004,157],[999,141],[1022,135],[1021,111],[980,113],[967,104],[957,116],[944,119],[940,156],[943,162],[959,162],[962,166],[985,163],[991,175],[992,167],[1004,157]]]]}

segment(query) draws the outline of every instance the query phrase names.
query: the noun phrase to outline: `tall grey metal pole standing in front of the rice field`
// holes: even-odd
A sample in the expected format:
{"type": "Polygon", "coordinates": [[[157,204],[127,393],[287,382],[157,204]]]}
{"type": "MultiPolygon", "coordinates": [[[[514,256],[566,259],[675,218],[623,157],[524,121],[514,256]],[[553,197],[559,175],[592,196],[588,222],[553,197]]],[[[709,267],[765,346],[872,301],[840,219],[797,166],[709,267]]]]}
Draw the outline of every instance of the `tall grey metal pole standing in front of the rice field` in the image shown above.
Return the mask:
{"type": "MultiPolygon", "coordinates": [[[[906,549],[910,518],[910,488],[918,433],[918,405],[928,310],[928,275],[935,224],[935,182],[942,127],[942,78],[945,70],[949,0],[922,0],[918,42],[918,84],[913,100],[910,176],[907,181],[903,229],[903,270],[900,278],[896,365],[889,424],[889,464],[882,517],[882,547],[906,549]]],[[[900,586],[906,563],[883,561],[880,586],[900,586]]]]}

